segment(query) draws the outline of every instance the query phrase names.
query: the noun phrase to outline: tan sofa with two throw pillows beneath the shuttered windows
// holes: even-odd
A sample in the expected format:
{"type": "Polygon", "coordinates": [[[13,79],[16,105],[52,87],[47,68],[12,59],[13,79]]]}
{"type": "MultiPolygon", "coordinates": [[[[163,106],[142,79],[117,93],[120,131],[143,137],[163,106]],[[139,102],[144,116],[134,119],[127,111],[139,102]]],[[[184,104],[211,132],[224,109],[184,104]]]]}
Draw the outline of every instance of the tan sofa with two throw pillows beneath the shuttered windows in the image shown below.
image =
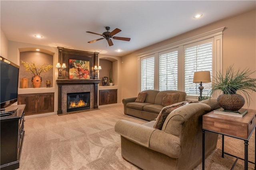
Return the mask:
{"type": "MultiPolygon", "coordinates": [[[[157,91],[157,90],[146,90],[146,99],[144,103],[135,102],[137,97],[126,98],[122,100],[124,104],[124,114],[152,121],[156,119],[160,111],[163,109],[162,99],[164,93],[179,93],[178,102],[186,101],[186,93],[183,91],[157,91]]],[[[177,103],[178,103],[177,102],[177,103]]]]}

